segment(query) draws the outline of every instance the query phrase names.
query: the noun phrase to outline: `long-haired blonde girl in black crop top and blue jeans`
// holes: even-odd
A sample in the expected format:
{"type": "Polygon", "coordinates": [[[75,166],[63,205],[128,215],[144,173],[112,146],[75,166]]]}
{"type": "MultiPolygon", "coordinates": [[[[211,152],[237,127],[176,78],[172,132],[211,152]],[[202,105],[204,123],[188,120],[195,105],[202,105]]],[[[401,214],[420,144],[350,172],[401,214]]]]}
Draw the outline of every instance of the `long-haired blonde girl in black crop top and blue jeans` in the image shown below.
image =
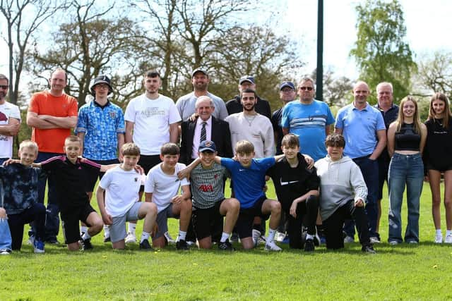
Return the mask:
{"type": "Polygon", "coordinates": [[[417,102],[411,96],[400,102],[398,118],[388,128],[388,153],[391,156],[388,171],[389,236],[388,242],[397,245],[402,239],[403,192],[407,188],[408,225],[405,242],[419,242],[419,207],[424,164],[422,150],[427,139],[427,128],[420,122],[417,102]]]}

